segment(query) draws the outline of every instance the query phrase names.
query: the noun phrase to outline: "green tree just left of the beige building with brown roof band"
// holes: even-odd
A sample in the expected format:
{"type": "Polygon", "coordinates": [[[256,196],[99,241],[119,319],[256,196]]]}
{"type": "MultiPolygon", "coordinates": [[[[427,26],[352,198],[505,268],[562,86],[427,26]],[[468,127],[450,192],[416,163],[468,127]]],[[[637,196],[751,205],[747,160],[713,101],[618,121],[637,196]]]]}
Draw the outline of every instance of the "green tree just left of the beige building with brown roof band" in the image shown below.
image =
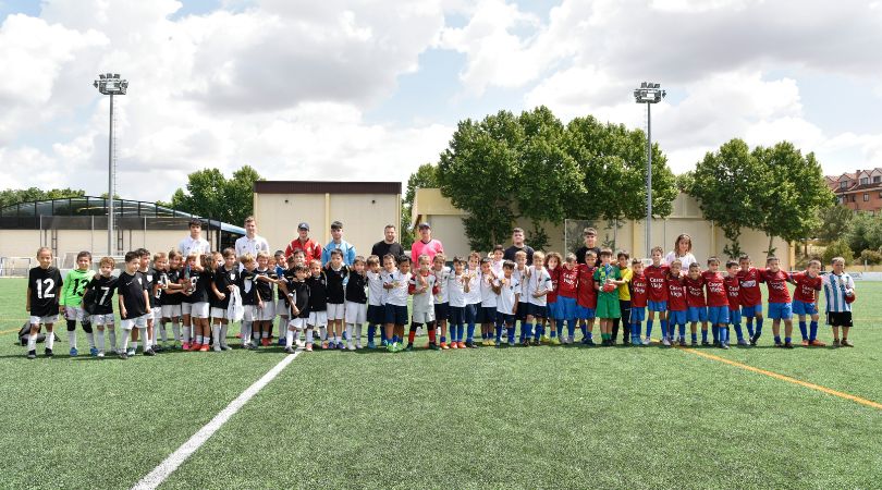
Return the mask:
{"type": "Polygon", "coordinates": [[[172,194],[171,207],[203,218],[242,223],[254,213],[254,183],[262,177],[249,166],[228,180],[218,169],[204,169],[187,175],[186,192],[172,194]]]}

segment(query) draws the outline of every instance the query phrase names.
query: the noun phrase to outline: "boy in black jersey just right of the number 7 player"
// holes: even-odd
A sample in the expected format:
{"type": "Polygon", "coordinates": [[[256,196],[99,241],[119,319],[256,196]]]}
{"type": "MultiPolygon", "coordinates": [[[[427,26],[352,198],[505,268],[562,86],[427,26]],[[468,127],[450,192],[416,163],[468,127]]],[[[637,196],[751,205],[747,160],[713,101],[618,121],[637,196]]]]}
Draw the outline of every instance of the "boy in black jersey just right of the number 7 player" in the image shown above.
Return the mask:
{"type": "Polygon", "coordinates": [[[152,314],[147,292],[147,281],[144,274],[138,272],[139,266],[139,254],[135,252],[126,253],[125,270],[120,272],[120,278],[117,281],[120,318],[122,319],[120,327],[123,330],[123,344],[122,348],[120,348],[120,358],[122,359],[127,359],[130,355],[137,352],[137,342],[133,342],[132,350],[128,351],[130,332],[133,328],[137,328],[140,331],[140,338],[145,340],[144,355],[156,355],[147,342],[149,340],[147,336],[147,318],[151,318],[152,314]]]}

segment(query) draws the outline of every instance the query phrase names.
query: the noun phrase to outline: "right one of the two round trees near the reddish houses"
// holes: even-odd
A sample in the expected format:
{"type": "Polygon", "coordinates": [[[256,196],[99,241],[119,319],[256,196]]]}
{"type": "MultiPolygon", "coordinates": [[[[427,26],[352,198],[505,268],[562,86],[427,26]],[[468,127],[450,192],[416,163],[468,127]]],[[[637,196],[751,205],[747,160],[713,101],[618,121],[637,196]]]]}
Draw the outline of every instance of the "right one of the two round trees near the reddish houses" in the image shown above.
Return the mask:
{"type": "Polygon", "coordinates": [[[751,155],[767,173],[767,192],[757,199],[761,211],[757,228],[769,236],[767,252],[773,255],[775,236],[789,243],[811,235],[821,224],[820,211],[833,205],[834,196],[813,152],[803,156],[792,143],[782,142],[757,147],[751,155]]]}

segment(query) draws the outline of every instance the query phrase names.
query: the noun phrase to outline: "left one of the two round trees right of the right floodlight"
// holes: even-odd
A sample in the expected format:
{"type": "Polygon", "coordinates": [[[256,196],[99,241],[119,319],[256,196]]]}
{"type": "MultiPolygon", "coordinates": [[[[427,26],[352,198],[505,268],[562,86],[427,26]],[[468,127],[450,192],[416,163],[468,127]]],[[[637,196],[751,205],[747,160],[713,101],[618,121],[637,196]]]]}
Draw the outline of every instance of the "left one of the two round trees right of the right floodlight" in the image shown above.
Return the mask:
{"type": "Polygon", "coordinates": [[[765,172],[747,144],[738,138],[707,152],[690,177],[684,177],[686,192],[698,200],[705,218],[723,230],[728,244],[724,253],[735,258],[740,253],[738,237],[743,228],[758,228],[760,201],[767,193],[765,172]]]}

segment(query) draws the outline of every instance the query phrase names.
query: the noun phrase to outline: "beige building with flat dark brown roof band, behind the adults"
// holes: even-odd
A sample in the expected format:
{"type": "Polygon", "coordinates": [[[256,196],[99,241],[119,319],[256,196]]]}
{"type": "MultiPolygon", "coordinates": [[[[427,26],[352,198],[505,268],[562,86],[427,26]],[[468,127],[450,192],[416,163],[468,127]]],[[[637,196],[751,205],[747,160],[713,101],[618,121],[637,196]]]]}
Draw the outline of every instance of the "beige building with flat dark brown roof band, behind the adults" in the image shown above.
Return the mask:
{"type": "Polygon", "coordinates": [[[297,237],[297,223],[309,223],[309,236],[323,247],[331,223],[343,223],[343,240],[367,255],[383,240],[387,224],[401,221],[401,182],[258,181],[254,184],[258,234],[270,249],[284,249],[297,237]]]}

